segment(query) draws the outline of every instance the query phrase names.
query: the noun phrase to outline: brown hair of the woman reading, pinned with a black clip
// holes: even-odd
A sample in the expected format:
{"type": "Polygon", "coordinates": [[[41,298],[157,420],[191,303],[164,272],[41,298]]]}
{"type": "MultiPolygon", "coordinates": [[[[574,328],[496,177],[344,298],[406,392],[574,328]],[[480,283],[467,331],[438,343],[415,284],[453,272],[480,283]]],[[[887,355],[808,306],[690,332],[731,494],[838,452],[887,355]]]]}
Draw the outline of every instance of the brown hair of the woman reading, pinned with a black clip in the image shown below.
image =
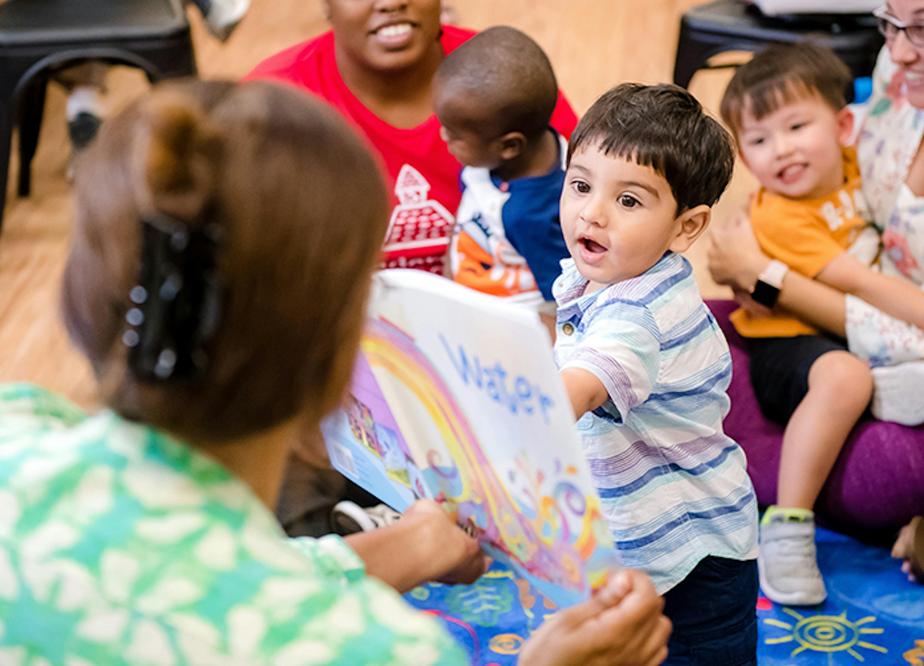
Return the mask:
{"type": "Polygon", "coordinates": [[[116,412],[222,441],[298,414],[316,423],[338,404],[387,212],[376,163],[332,110],[259,81],[155,87],[103,124],[76,190],[65,320],[116,412]],[[220,319],[198,378],[128,369],[140,220],[152,214],[221,230],[220,319]]]}

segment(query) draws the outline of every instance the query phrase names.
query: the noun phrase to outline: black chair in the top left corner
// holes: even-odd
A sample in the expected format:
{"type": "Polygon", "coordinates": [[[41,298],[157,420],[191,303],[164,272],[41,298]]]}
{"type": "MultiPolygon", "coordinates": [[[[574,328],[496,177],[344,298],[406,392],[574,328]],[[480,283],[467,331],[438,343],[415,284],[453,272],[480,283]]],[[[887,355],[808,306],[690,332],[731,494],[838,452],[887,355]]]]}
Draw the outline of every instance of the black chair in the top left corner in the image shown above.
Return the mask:
{"type": "Polygon", "coordinates": [[[25,197],[48,80],[91,59],[138,67],[151,82],[195,74],[183,0],[0,1],[0,224],[13,128],[25,197]]]}

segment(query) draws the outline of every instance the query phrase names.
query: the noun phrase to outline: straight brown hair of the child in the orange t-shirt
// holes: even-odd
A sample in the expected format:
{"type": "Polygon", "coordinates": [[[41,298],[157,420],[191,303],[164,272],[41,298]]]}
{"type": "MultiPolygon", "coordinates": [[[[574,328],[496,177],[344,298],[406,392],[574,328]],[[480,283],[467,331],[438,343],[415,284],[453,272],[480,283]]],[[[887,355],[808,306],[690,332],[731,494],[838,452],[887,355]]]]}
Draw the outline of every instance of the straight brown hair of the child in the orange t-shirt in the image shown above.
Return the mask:
{"type": "Polygon", "coordinates": [[[737,136],[746,107],[760,120],[808,95],[819,95],[840,111],[852,80],[850,69],[831,49],[810,43],[773,45],[738,68],[722,98],[722,119],[737,136]]]}

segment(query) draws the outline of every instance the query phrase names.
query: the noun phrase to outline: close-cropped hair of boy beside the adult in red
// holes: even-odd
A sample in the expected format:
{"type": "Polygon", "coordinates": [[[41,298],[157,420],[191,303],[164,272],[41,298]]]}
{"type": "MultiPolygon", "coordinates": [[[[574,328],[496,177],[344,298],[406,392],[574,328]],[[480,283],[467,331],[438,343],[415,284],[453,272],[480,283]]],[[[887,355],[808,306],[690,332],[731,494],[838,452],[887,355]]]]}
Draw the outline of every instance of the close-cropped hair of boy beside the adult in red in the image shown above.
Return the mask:
{"type": "Polygon", "coordinates": [[[528,35],[509,26],[483,30],[446,55],[434,80],[452,94],[473,97],[491,117],[476,130],[503,136],[522,132],[527,139],[549,127],[558,83],[548,56],[528,35]]]}

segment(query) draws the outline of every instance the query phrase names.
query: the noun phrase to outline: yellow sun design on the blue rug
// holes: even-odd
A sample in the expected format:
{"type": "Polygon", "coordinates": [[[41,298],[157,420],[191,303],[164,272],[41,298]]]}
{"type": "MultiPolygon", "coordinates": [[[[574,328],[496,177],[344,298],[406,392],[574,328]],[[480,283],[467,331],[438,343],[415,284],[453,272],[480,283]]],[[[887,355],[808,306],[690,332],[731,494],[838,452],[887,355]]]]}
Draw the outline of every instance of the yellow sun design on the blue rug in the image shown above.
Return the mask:
{"type": "Polygon", "coordinates": [[[815,652],[846,652],[858,661],[863,661],[863,655],[857,651],[858,648],[866,648],[882,654],[889,651],[880,645],[864,640],[869,635],[881,634],[885,631],[877,627],[863,626],[876,621],[876,618],[871,615],[857,622],[850,622],[847,620],[846,611],[840,615],[810,615],[808,617],[789,608],[784,608],[783,612],[792,616],[796,624],[772,618],[764,620],[763,623],[785,629],[791,632],[790,635],[767,638],[764,643],[780,645],[796,642],[798,647],[790,653],[790,657],[795,657],[804,650],[813,650],[815,652]]]}

